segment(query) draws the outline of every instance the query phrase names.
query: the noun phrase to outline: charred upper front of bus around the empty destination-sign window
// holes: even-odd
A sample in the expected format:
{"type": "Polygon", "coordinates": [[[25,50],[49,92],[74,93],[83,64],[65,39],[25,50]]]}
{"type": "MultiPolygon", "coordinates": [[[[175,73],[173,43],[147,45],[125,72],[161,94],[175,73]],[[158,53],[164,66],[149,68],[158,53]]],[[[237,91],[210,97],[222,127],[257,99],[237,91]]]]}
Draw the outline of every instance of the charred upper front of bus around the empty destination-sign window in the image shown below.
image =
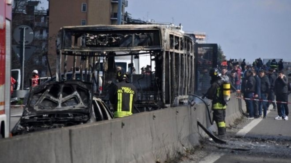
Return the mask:
{"type": "Polygon", "coordinates": [[[67,26],[58,34],[57,49],[66,55],[78,52],[161,51],[169,46],[169,35],[187,37],[182,30],[165,25],[67,26]]]}

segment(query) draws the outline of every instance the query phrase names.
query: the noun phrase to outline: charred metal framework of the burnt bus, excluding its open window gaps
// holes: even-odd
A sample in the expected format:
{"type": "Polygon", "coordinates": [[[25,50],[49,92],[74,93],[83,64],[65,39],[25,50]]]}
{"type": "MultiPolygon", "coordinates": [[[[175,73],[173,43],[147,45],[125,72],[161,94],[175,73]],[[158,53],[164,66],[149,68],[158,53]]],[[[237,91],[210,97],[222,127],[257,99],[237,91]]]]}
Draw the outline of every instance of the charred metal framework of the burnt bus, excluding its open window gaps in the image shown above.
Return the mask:
{"type": "MultiPolygon", "coordinates": [[[[69,36],[70,37],[70,36],[69,36]]],[[[132,36],[132,44],[134,44],[134,36],[132,36]]],[[[139,55],[138,51],[148,51],[153,59],[157,62],[162,62],[160,67],[156,64],[156,75],[161,79],[157,93],[159,99],[155,101],[153,108],[162,108],[169,106],[184,105],[188,102],[188,94],[194,93],[195,79],[195,61],[194,61],[194,40],[188,35],[181,32],[179,27],[162,26],[162,25],[96,25],[96,26],[71,26],[63,27],[59,31],[56,41],[57,47],[57,80],[61,77],[61,67],[63,65],[63,73],[67,72],[68,55],[73,56],[73,79],[75,76],[76,56],[86,58],[83,62],[86,63],[85,70],[88,70],[90,65],[94,65],[96,57],[114,57],[117,56],[114,52],[127,51],[129,55],[139,55]],[[71,47],[64,47],[65,36],[71,32],[88,32],[88,31],[109,31],[109,30],[159,30],[160,45],[159,46],[132,46],[132,47],[78,47],[78,40],[75,39],[71,47]],[[63,55],[63,57],[62,57],[63,55]],[[63,64],[62,64],[63,58],[63,64]],[[159,73],[157,72],[159,71],[159,73]]],[[[113,59],[114,60],[114,59],[113,59]]],[[[82,62],[81,60],[79,61],[82,62]]],[[[80,64],[80,71],[83,69],[80,64]]],[[[89,73],[89,72],[88,72],[89,73]]],[[[111,72],[114,74],[115,72],[111,72]]],[[[81,73],[82,74],[82,73],[81,73]]],[[[108,74],[104,74],[107,75],[108,74]]],[[[110,75],[110,74],[109,74],[110,75]]],[[[93,82],[94,72],[91,71],[91,79],[93,82]]],[[[114,75],[113,75],[114,76],[114,75]]],[[[104,77],[105,79],[105,77],[104,77]]],[[[104,82],[104,80],[103,80],[104,82]]],[[[140,104],[145,106],[147,103],[140,104]]],[[[139,107],[139,104],[136,105],[139,107]]]]}

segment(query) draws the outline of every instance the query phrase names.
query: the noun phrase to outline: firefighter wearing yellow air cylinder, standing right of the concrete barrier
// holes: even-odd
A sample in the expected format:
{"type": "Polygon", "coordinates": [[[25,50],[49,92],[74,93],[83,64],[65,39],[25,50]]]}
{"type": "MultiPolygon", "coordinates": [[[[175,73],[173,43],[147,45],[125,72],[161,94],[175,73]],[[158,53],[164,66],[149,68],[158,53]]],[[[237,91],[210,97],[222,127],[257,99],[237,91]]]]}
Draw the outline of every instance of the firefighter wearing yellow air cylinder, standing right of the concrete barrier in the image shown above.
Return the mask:
{"type": "Polygon", "coordinates": [[[217,68],[212,68],[209,75],[211,77],[211,86],[205,96],[212,100],[213,120],[217,124],[218,136],[224,138],[226,135],[226,102],[222,93],[223,80],[217,68]]]}

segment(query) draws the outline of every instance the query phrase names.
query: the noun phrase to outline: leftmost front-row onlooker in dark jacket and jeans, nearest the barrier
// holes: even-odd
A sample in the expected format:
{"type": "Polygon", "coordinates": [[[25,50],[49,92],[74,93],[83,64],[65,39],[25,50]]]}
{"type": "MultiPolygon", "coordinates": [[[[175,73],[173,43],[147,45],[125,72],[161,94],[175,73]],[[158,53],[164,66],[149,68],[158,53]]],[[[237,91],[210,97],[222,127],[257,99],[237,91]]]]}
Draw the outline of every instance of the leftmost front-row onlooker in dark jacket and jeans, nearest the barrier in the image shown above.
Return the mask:
{"type": "Polygon", "coordinates": [[[253,99],[254,97],[256,80],[255,80],[255,77],[253,77],[252,70],[247,70],[246,76],[247,76],[247,79],[246,79],[246,84],[245,84],[244,98],[248,98],[246,99],[246,105],[247,105],[247,108],[249,109],[248,119],[254,119],[253,100],[250,100],[250,99],[253,99]]]}

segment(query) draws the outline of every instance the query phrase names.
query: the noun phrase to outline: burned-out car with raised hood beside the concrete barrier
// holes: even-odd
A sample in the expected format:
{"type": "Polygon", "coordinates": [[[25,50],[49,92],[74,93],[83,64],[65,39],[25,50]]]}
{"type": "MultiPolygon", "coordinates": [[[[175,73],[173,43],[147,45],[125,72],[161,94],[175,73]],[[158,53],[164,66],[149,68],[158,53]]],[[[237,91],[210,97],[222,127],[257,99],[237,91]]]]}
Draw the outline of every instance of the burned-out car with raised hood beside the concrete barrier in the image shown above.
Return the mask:
{"type": "Polygon", "coordinates": [[[112,119],[106,104],[92,96],[92,83],[79,80],[48,82],[33,87],[22,117],[11,133],[20,135],[112,119]]]}

